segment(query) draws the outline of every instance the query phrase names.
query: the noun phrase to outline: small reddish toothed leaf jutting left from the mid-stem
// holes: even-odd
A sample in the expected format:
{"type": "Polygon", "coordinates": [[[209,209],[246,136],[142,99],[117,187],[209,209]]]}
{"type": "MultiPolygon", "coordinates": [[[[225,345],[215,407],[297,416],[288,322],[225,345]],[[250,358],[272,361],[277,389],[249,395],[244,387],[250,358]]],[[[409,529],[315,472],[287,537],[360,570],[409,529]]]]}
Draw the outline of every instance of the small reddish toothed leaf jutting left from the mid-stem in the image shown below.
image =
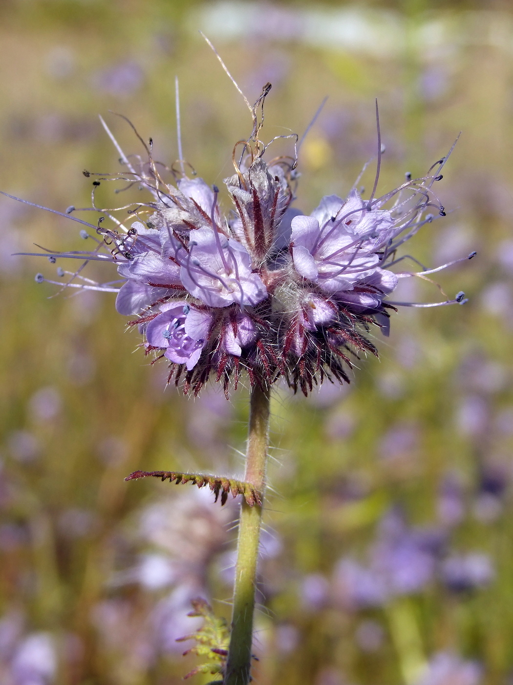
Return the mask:
{"type": "Polygon", "coordinates": [[[127,475],[125,480],[137,480],[138,478],[146,478],[148,476],[160,478],[163,481],[169,479],[170,483],[174,482],[176,485],[192,483],[197,485],[198,488],[208,486],[215,493],[216,502],[221,495],[221,506],[226,504],[229,493],[234,498],[237,495],[243,495],[250,507],[255,504],[262,506],[262,494],[254,485],[224,476],[214,476],[207,473],[182,473],[181,471],[134,471],[127,475]]]}

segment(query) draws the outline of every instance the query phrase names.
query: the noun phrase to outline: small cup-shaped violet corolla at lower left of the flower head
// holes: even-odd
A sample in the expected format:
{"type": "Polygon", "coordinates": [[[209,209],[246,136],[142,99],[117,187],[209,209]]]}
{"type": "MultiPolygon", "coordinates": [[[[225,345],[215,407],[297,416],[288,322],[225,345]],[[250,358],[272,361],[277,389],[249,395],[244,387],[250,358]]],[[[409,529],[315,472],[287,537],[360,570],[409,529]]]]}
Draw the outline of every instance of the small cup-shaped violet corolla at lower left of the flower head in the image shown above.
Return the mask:
{"type": "Polygon", "coordinates": [[[212,316],[182,301],[161,304],[160,314],[146,327],[146,340],[152,347],[164,348],[164,356],[175,364],[194,369],[207,343],[212,316]]]}

